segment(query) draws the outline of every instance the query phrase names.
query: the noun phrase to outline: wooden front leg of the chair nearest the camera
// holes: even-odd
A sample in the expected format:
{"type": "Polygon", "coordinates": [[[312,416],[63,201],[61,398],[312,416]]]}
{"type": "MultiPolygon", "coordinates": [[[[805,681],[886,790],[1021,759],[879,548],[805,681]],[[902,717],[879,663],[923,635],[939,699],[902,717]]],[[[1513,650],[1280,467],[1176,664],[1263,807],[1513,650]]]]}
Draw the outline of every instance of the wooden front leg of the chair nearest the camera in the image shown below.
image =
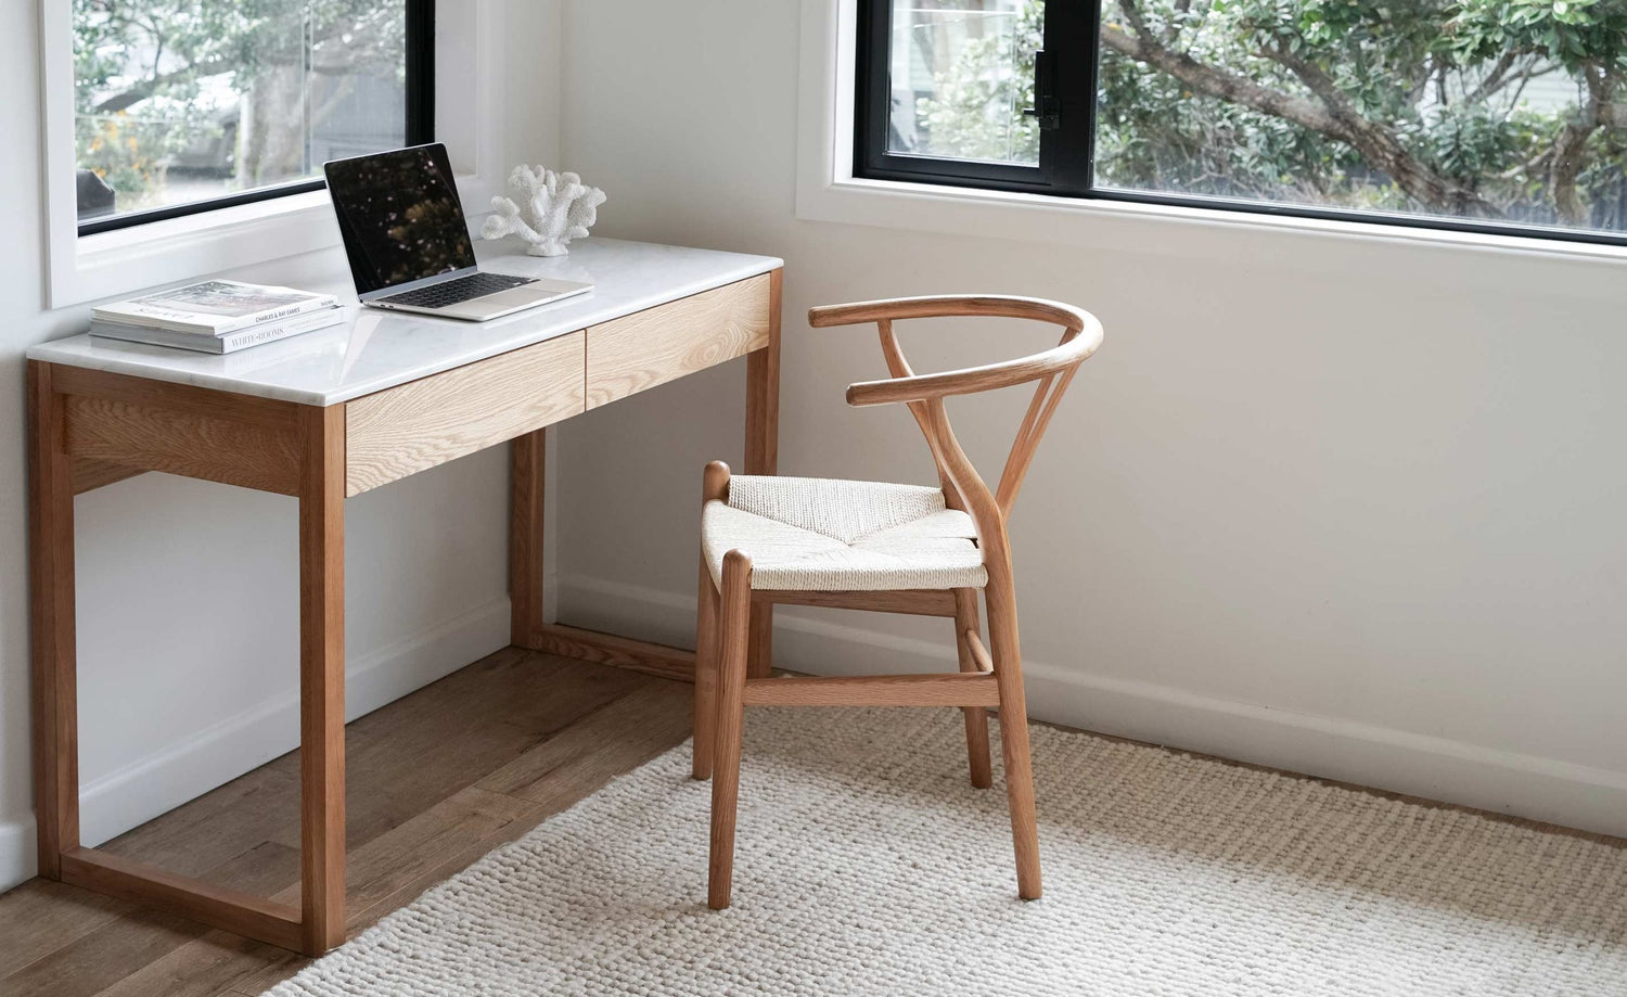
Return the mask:
{"type": "Polygon", "coordinates": [[[752,561],[737,550],[722,561],[718,625],[718,712],[713,738],[711,860],[706,906],[729,906],[734,882],[734,813],[740,794],[740,732],[745,722],[745,659],[752,621],[752,561]]]}

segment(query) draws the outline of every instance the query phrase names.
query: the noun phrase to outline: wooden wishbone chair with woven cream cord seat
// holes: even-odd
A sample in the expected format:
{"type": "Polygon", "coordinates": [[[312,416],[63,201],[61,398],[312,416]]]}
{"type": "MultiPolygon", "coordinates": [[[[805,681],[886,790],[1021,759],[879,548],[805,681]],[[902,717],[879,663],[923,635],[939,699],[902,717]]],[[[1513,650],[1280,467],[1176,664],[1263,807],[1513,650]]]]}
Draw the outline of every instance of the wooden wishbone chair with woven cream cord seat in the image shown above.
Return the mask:
{"type": "Polygon", "coordinates": [[[1040,896],[1040,836],[1028,758],[1028,709],[1017,644],[1017,594],[1005,519],[1056,405],[1101,343],[1101,324],[1054,301],[957,294],[835,304],[809,324],[875,322],[887,381],[848,387],[849,405],[903,403],[937,465],[939,488],[830,478],[731,477],[706,465],[700,613],[695,628],[695,777],[713,781],[706,903],[727,908],[740,730],[747,706],[957,706],[966,721],[971,784],[992,784],[988,707],[1001,711],[1001,758],[1017,857],[1017,895],[1040,896]],[[893,320],[947,316],[1035,319],[1062,327],[1043,353],[984,368],[916,374],[893,320]],[[949,426],[944,398],[1038,382],[999,486],[989,490],[949,426]],[[983,642],[978,607],[988,608],[983,642]],[[958,672],[770,678],[773,603],[823,605],[955,621],[958,672]],[[757,660],[748,660],[757,659],[757,660]]]}

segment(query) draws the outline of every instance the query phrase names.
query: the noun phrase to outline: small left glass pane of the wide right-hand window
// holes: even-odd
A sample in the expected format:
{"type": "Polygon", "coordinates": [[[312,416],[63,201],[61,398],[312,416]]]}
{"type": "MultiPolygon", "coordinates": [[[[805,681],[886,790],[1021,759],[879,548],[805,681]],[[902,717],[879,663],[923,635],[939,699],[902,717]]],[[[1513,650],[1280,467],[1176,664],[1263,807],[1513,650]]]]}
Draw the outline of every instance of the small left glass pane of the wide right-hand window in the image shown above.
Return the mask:
{"type": "Polygon", "coordinates": [[[892,153],[1040,161],[1033,54],[1043,2],[892,0],[892,153]]]}

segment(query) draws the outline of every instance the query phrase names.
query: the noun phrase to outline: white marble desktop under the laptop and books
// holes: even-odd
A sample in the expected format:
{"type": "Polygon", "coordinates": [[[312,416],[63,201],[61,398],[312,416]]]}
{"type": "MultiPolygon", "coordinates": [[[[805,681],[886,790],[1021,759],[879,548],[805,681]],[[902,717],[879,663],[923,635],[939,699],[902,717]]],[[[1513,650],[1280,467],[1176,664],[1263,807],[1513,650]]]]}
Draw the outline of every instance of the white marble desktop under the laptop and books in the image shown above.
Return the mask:
{"type": "Polygon", "coordinates": [[[594,290],[491,322],[386,312],[358,306],[351,294],[338,325],[225,356],[88,333],[39,343],[28,356],[241,395],[334,405],[781,267],[773,257],[597,236],[574,242],[566,257],[530,257],[517,247],[483,249],[480,257],[483,270],[584,280],[594,290]]]}

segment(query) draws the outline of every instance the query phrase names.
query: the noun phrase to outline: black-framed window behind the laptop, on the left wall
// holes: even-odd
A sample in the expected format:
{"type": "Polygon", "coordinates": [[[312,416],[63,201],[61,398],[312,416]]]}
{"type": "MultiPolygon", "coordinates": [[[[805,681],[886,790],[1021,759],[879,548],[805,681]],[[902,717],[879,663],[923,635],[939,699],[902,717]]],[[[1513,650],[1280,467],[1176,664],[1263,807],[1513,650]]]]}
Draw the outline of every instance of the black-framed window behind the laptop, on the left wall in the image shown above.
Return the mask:
{"type": "Polygon", "coordinates": [[[428,141],[433,0],[72,0],[81,236],[428,141]]]}

